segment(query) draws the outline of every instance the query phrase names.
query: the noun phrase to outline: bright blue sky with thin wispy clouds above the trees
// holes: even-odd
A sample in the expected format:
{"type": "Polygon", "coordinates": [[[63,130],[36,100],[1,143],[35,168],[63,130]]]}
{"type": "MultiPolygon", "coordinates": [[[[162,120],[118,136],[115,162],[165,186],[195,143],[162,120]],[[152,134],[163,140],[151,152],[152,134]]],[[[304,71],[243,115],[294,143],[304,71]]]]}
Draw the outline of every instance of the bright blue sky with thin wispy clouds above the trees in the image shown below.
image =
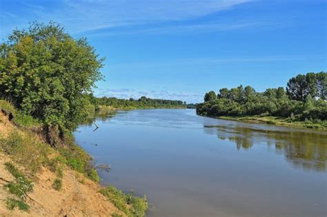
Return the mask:
{"type": "Polygon", "coordinates": [[[87,37],[106,81],[97,96],[200,102],[326,71],[325,0],[1,0],[1,39],[31,21],[87,37]]]}

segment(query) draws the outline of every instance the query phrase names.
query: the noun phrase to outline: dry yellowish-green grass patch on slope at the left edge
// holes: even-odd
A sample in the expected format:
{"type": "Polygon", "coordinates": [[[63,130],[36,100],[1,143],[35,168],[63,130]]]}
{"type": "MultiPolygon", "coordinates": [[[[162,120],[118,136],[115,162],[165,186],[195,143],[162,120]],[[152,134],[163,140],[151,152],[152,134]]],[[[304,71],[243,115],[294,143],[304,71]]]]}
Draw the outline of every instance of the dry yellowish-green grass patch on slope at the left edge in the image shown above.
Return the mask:
{"type": "Polygon", "coordinates": [[[40,143],[32,132],[21,134],[12,131],[7,138],[0,138],[0,149],[12,156],[12,159],[24,165],[26,172],[34,175],[41,165],[48,162],[50,147],[40,143]]]}

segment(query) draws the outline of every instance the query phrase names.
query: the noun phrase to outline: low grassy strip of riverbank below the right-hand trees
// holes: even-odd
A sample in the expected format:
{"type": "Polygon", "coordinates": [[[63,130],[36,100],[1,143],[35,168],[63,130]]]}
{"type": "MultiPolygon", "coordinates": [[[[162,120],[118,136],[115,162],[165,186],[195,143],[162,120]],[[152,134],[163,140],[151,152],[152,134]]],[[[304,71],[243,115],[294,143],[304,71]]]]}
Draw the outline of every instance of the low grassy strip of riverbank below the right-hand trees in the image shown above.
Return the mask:
{"type": "Polygon", "coordinates": [[[300,127],[317,130],[327,130],[327,126],[319,123],[311,123],[310,121],[291,121],[290,118],[281,118],[276,116],[212,116],[229,121],[243,121],[248,123],[265,123],[269,125],[300,127]]]}

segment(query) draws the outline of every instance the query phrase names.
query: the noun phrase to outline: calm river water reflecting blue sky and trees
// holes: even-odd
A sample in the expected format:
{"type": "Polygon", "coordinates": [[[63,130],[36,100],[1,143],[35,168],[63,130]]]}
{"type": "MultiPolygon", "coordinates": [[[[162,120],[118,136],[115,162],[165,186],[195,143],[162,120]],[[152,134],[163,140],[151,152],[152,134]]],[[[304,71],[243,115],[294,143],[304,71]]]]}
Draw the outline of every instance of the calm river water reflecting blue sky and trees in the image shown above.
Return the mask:
{"type": "Polygon", "coordinates": [[[147,216],[326,216],[327,133],[197,116],[101,114],[77,143],[101,184],[146,194],[147,216]]]}

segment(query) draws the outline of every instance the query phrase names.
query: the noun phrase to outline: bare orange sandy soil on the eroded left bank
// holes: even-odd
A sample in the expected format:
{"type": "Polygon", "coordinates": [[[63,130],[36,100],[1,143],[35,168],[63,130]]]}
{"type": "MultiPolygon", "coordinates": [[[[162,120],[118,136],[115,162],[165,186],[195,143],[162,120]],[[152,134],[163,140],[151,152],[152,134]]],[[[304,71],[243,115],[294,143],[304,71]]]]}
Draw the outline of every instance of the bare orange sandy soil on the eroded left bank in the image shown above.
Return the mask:
{"type": "MultiPolygon", "coordinates": [[[[1,113],[1,112],[0,112],[1,113]]],[[[0,136],[7,136],[14,126],[0,114],[0,136]]],[[[106,197],[99,193],[100,186],[71,169],[63,170],[63,187],[60,192],[52,188],[56,175],[42,167],[34,180],[33,192],[26,202],[30,211],[24,212],[6,208],[6,198],[12,197],[3,189],[13,176],[6,170],[10,157],[0,152],[0,216],[111,216],[121,214],[106,197]]]]}

